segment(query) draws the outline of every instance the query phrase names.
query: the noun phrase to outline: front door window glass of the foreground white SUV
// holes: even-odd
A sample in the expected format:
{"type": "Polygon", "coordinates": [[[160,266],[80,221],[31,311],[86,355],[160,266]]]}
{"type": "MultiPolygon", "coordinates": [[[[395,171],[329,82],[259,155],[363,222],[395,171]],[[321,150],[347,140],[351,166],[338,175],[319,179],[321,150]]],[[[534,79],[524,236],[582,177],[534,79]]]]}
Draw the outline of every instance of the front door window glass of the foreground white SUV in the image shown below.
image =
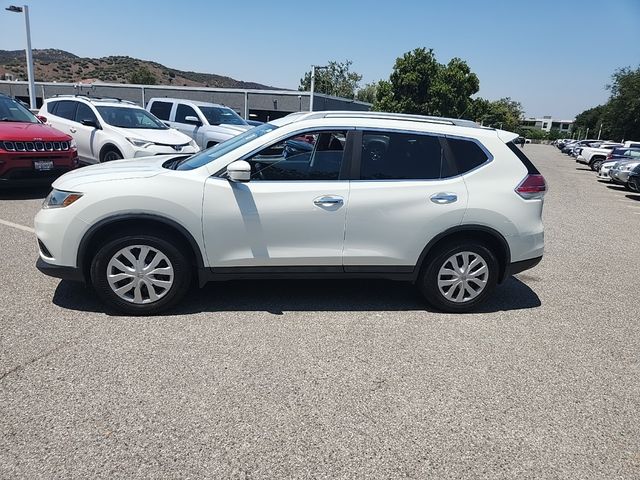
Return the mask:
{"type": "Polygon", "coordinates": [[[311,132],[271,145],[247,162],[252,180],[338,180],[346,131],[311,132]]]}

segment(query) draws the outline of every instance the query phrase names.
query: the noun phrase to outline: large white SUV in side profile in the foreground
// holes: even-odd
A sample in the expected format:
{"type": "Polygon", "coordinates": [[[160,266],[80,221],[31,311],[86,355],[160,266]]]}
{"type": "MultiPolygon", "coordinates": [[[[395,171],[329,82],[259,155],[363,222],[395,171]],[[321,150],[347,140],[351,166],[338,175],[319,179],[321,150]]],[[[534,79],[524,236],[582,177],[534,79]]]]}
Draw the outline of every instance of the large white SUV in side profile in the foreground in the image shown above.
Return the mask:
{"type": "Polygon", "coordinates": [[[195,276],[408,280],[473,309],[543,253],[544,178],[516,134],[398,114],[296,113],[199,154],[63,175],[38,268],[152,314],[195,276]]]}

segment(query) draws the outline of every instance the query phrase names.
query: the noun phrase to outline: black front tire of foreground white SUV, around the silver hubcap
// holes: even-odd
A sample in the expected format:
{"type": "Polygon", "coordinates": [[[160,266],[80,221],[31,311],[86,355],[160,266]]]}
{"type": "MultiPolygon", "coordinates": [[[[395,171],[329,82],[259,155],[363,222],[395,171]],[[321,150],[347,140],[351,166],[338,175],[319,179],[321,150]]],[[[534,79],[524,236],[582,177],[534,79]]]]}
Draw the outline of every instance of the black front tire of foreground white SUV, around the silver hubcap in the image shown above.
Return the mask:
{"type": "MultiPolygon", "coordinates": [[[[180,249],[180,246],[181,243],[172,241],[170,236],[161,238],[161,235],[154,234],[125,233],[111,238],[98,248],[91,260],[90,275],[93,288],[108,306],[121,313],[128,315],[154,315],[166,310],[178,303],[191,285],[193,269],[188,256],[180,249]],[[162,296],[158,300],[150,300],[148,303],[133,303],[133,301],[124,300],[114,292],[107,280],[107,268],[111,259],[120,250],[133,245],[148,246],[155,251],[159,251],[170,262],[169,266],[173,269],[173,281],[169,288],[164,289],[159,294],[162,296]]],[[[151,258],[153,259],[153,257],[151,258]]],[[[164,265],[160,264],[160,266],[164,265]]],[[[160,280],[162,280],[162,275],[160,277],[160,280]]],[[[135,280],[135,278],[132,278],[132,282],[135,280]]],[[[146,285],[138,288],[146,291],[147,295],[149,294],[146,285]]]]}

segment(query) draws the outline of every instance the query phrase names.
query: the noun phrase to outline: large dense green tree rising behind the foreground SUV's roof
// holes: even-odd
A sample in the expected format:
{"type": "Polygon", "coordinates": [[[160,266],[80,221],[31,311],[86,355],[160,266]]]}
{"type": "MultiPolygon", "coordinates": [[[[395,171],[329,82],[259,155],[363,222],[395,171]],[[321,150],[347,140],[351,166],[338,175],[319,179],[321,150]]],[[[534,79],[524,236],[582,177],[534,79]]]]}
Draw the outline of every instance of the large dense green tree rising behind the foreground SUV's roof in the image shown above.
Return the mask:
{"type": "Polygon", "coordinates": [[[375,110],[462,117],[480,81],[467,63],[439,63],[433,49],[416,48],[396,59],[389,81],[378,84],[375,110]]]}

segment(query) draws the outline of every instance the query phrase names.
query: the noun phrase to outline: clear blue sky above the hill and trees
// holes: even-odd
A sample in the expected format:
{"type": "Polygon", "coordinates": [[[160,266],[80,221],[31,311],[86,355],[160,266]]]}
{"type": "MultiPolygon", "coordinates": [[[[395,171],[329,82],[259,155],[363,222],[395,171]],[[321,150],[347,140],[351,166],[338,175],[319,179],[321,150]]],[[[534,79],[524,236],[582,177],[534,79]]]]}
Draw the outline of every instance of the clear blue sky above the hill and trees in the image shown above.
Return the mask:
{"type": "MultiPolygon", "coordinates": [[[[509,96],[528,116],[572,118],[606,101],[615,69],[640,65],[640,0],[31,0],[29,7],[33,48],[129,55],[283,88],[297,88],[311,64],[328,60],[352,60],[363,84],[386,79],[404,52],[433,48],[442,63],[467,61],[479,95],[509,96]]],[[[24,45],[23,19],[0,10],[0,49],[24,45]]]]}

